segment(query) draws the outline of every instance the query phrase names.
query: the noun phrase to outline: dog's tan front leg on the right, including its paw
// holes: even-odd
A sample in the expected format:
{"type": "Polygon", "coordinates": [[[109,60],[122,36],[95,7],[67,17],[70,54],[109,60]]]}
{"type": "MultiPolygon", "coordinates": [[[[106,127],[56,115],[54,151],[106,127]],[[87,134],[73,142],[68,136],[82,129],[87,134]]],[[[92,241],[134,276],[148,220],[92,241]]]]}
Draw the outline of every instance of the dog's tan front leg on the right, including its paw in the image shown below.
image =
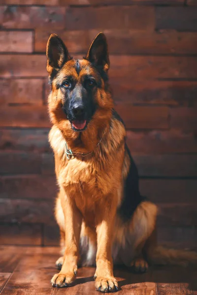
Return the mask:
{"type": "Polygon", "coordinates": [[[113,275],[113,261],[111,256],[112,238],[116,205],[109,203],[99,208],[99,223],[97,226],[97,269],[95,273],[96,290],[101,292],[115,292],[118,283],[113,275]]]}

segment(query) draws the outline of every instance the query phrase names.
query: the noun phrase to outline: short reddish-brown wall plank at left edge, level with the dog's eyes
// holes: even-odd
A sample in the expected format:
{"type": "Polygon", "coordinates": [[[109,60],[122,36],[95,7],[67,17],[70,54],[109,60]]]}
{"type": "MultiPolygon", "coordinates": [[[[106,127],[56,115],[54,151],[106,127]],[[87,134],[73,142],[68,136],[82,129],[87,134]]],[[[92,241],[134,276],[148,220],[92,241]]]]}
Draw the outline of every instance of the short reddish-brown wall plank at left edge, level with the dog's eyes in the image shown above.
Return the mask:
{"type": "Polygon", "coordinates": [[[0,105],[43,104],[41,79],[0,79],[0,89],[0,105]]]}

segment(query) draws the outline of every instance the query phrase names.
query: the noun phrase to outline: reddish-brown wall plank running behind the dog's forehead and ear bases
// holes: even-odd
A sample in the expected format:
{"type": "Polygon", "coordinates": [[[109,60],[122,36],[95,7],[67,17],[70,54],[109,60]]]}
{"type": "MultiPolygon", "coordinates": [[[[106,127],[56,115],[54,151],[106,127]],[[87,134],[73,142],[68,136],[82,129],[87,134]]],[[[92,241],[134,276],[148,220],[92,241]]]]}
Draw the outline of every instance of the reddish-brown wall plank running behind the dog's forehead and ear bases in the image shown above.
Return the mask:
{"type": "MultiPolygon", "coordinates": [[[[82,58],[75,55],[74,58],[82,58]]],[[[197,57],[110,56],[110,79],[196,79],[197,57]]],[[[2,55],[0,77],[46,77],[45,55],[2,55]]]]}

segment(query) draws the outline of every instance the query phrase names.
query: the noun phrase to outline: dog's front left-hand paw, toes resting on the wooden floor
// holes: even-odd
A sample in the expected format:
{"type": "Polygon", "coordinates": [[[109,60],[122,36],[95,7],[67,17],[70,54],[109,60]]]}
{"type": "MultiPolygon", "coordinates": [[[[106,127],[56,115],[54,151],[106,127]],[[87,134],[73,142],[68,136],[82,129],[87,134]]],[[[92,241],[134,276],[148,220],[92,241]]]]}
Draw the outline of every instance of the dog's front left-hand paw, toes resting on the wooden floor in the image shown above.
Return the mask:
{"type": "Polygon", "coordinates": [[[53,287],[63,288],[72,284],[76,278],[77,270],[69,271],[66,273],[56,273],[52,280],[51,284],[53,287]]]}

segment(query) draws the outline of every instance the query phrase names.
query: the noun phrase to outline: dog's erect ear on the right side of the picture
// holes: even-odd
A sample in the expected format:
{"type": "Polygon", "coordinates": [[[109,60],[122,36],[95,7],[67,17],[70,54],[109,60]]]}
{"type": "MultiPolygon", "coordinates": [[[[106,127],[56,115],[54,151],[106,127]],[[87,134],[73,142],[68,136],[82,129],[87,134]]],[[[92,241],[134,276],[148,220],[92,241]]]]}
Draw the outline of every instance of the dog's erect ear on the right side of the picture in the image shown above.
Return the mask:
{"type": "Polygon", "coordinates": [[[92,41],[86,59],[96,66],[101,66],[105,71],[109,69],[107,40],[102,32],[92,41]]]}

